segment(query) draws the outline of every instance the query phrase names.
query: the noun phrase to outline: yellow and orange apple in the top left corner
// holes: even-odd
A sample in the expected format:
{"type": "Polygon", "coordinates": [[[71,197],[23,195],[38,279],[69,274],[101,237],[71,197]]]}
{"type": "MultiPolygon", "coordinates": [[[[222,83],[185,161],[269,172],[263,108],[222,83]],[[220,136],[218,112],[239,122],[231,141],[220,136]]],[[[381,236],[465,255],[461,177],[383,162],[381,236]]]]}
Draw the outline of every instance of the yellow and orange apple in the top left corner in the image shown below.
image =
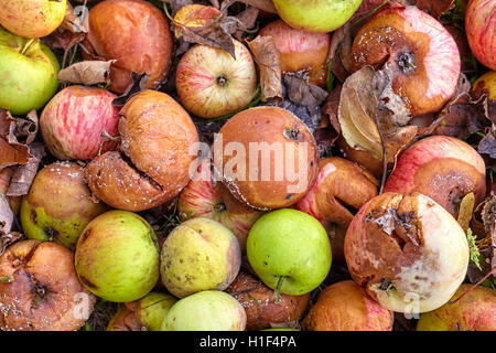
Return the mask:
{"type": "Polygon", "coordinates": [[[46,36],[62,24],[66,6],[66,0],[2,0],[0,25],[20,36],[46,36]]]}

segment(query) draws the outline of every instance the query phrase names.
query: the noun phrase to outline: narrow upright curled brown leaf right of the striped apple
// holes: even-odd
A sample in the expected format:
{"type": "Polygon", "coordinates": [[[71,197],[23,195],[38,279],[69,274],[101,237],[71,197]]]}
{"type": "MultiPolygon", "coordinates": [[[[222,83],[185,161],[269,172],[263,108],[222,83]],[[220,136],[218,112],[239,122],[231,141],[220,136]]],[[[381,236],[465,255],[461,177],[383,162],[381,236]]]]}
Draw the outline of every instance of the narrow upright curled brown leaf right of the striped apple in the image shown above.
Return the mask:
{"type": "Polygon", "coordinates": [[[259,68],[261,100],[282,101],[281,57],[273,39],[258,35],[247,43],[259,68]]]}

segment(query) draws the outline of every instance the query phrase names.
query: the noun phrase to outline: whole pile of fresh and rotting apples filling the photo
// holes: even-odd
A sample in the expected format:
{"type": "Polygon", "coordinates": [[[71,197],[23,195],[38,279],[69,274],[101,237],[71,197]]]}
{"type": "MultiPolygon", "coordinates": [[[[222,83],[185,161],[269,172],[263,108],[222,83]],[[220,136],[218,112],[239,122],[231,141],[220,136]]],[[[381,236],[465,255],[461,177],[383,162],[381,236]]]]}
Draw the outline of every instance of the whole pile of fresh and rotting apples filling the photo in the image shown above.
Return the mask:
{"type": "MultiPolygon", "coordinates": [[[[477,206],[493,192],[477,150],[419,136],[388,165],[343,133],[322,156],[304,119],[260,100],[249,45],[270,39],[283,74],[332,94],[333,36],[354,25],[351,73],[388,65],[422,119],[462,73],[436,18],[408,1],[259,1],[259,29],[227,46],[191,31],[228,1],[72,2],[0,1],[0,109],[36,111],[46,148],[29,192],[9,199],[23,237],[0,253],[0,330],[88,329],[98,303],[114,304],[109,331],[392,331],[399,317],[496,330],[496,291],[472,288],[459,222],[467,195],[477,206]],[[106,84],[60,79],[67,57],[46,39],[75,9],[86,31],[73,63],[108,62],[106,84]]],[[[474,79],[496,99],[496,1],[459,6],[484,66],[474,79]]]]}

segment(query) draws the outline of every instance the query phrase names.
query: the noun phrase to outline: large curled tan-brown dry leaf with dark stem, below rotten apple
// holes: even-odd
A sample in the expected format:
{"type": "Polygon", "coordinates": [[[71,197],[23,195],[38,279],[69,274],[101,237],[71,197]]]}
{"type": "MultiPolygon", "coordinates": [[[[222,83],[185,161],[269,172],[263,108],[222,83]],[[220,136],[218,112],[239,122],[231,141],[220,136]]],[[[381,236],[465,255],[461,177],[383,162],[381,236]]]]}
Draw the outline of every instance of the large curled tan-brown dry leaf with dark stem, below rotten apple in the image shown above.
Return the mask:
{"type": "Polygon", "coordinates": [[[338,106],[341,131],[346,142],[379,160],[386,156],[388,163],[395,162],[418,130],[417,126],[408,125],[410,111],[392,92],[389,65],[380,71],[365,66],[345,81],[338,106]]]}

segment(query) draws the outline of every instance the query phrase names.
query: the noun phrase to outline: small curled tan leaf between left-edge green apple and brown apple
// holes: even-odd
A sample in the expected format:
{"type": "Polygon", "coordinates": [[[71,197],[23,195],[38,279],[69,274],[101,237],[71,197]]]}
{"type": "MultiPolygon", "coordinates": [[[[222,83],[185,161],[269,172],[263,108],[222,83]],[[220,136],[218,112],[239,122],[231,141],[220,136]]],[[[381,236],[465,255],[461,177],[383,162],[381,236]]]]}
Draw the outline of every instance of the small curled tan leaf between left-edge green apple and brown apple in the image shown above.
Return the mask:
{"type": "Polygon", "coordinates": [[[104,61],[84,61],[75,63],[58,72],[58,79],[71,84],[96,85],[106,83],[110,76],[110,65],[116,60],[104,61]]]}

